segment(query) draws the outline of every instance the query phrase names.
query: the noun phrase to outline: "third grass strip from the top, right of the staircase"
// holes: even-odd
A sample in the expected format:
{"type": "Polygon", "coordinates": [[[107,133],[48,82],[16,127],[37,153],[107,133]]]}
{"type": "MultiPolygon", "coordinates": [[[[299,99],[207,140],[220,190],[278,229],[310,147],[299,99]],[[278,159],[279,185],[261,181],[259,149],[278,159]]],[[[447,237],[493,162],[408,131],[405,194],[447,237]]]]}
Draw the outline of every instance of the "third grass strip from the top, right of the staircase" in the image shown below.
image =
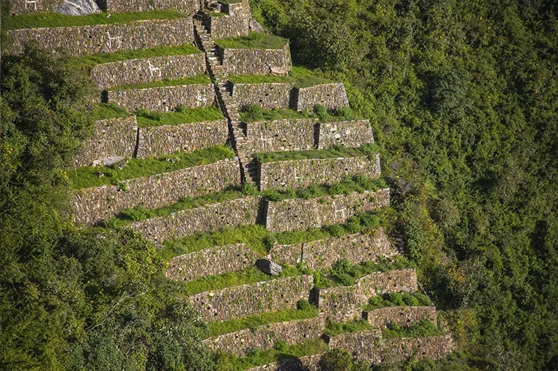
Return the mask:
{"type": "Polygon", "coordinates": [[[257,121],[273,121],[281,118],[313,118],[318,123],[331,123],[335,121],[359,120],[362,117],[348,107],[340,107],[335,111],[327,111],[324,106],[315,106],[312,111],[296,111],[294,109],[262,109],[257,104],[248,104],[239,111],[245,123],[257,121]]]}

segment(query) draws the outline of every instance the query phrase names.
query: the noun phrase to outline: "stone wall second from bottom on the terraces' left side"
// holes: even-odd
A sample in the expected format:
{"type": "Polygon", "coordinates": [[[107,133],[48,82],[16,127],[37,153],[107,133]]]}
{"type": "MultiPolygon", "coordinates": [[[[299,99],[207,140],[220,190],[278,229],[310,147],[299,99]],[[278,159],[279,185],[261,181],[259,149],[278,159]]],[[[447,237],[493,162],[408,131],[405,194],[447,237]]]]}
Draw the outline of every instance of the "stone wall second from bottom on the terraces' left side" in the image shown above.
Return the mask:
{"type": "Polygon", "coordinates": [[[204,340],[204,344],[212,352],[218,350],[235,356],[245,356],[246,350],[258,348],[273,349],[273,345],[282,340],[289,345],[319,338],[324,333],[324,318],[316,317],[298,321],[280,322],[259,326],[257,329],[246,329],[227,333],[215,338],[204,340]]]}

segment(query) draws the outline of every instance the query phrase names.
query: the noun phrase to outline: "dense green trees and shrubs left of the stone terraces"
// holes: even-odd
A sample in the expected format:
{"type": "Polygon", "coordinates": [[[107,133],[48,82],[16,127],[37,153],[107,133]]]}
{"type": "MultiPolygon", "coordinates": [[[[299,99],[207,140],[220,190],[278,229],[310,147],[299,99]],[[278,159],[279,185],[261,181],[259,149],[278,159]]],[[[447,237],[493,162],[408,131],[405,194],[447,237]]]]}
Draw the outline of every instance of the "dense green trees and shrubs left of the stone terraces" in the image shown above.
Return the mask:
{"type": "Polygon", "coordinates": [[[66,218],[62,168],[93,125],[66,62],[34,47],[2,59],[0,369],[214,370],[154,246],[66,218]]]}

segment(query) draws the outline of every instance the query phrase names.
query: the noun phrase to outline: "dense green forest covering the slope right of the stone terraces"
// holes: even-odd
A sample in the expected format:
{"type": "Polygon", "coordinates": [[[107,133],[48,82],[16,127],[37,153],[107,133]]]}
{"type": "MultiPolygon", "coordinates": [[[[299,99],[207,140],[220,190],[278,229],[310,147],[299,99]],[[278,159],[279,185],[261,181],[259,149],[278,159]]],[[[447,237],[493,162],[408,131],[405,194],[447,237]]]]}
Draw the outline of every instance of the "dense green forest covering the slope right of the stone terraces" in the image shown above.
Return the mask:
{"type": "Polygon", "coordinates": [[[469,365],[558,368],[557,4],[250,6],[370,119],[395,235],[469,365]]]}

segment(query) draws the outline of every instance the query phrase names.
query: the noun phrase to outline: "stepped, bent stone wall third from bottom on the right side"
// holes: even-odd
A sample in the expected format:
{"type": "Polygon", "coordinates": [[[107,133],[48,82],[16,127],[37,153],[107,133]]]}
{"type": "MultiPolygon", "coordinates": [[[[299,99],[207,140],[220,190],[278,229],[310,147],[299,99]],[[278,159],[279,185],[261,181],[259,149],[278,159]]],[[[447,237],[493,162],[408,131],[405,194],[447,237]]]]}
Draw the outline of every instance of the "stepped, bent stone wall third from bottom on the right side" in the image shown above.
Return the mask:
{"type": "Polygon", "coordinates": [[[360,308],[368,302],[369,297],[383,292],[410,292],[416,288],[416,271],[398,269],[372,273],[359,278],[352,286],[315,289],[312,301],[317,303],[324,316],[343,321],[361,317],[360,308]]]}

